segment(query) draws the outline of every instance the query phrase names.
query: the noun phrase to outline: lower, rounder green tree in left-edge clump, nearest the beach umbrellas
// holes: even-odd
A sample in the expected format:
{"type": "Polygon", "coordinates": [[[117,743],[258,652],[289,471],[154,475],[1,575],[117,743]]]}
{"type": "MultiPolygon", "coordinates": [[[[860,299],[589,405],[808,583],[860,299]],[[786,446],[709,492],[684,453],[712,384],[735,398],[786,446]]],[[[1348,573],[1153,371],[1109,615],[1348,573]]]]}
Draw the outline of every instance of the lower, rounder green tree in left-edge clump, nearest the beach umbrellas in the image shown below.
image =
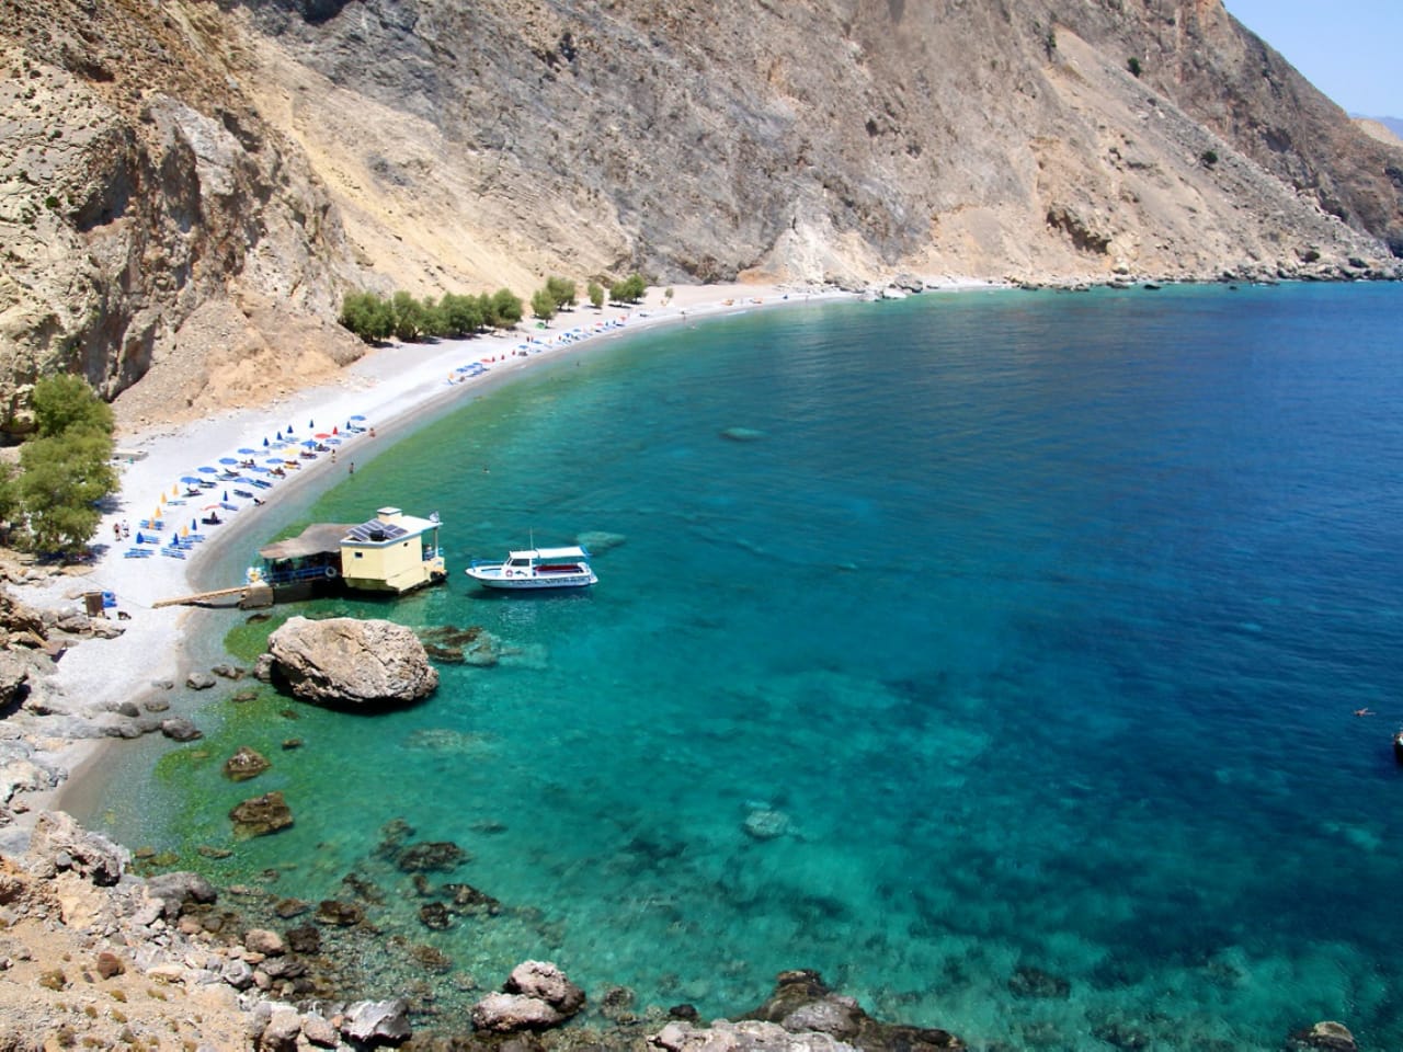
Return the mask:
{"type": "Polygon", "coordinates": [[[98,502],[116,490],[112,436],[79,426],[36,438],[20,449],[20,466],[29,547],[80,554],[102,519],[98,502]]]}

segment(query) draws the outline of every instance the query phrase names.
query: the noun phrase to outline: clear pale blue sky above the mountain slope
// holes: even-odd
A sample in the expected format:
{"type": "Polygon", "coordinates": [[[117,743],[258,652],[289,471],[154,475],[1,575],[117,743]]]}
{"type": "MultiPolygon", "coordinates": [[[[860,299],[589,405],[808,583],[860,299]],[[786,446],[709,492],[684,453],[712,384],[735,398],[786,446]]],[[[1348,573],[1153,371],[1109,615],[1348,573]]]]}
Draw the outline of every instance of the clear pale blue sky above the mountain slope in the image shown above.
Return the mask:
{"type": "Polygon", "coordinates": [[[1223,0],[1351,114],[1403,118],[1403,0],[1223,0]]]}

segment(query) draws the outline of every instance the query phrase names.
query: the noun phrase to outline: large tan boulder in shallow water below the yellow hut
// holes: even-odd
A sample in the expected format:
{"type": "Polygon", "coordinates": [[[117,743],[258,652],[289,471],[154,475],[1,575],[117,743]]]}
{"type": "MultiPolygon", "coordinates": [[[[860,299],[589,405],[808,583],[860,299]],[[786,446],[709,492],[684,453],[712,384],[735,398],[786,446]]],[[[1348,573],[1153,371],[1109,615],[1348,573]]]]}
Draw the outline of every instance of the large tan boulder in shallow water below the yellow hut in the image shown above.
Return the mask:
{"type": "Polygon", "coordinates": [[[438,689],[424,644],[393,621],[290,617],[268,637],[268,652],[275,680],[317,704],[405,704],[438,689]]]}

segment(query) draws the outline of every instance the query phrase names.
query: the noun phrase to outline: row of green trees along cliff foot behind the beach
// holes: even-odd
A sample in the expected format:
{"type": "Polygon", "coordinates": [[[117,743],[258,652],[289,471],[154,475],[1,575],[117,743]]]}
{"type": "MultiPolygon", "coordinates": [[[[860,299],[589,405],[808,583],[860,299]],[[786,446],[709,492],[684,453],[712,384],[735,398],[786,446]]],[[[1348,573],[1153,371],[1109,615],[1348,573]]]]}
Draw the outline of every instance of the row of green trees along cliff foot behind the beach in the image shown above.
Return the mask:
{"type": "MultiPolygon", "coordinates": [[[[550,321],[575,306],[577,285],[568,278],[550,276],[530,297],[532,314],[550,321]]],[[[607,292],[595,281],[586,288],[591,304],[637,303],[647,290],[643,275],[612,282],[607,292]]],[[[439,299],[415,299],[400,290],[389,299],[373,292],[347,293],[341,303],[341,324],[368,344],[394,337],[412,344],[421,339],[464,339],[490,328],[511,328],[522,320],[523,306],[511,289],[477,296],[445,292],[439,299]]]]}

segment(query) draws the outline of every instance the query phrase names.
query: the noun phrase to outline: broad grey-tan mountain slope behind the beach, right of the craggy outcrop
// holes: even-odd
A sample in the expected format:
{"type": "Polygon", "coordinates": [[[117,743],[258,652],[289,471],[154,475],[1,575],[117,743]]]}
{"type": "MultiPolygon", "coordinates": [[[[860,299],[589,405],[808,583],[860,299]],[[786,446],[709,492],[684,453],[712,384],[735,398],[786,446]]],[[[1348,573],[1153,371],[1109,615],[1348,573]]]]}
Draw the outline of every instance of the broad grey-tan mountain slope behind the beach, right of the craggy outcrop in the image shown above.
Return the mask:
{"type": "Polygon", "coordinates": [[[513,278],[1212,276],[1396,244],[1397,159],[1219,0],[240,6],[272,81],[296,55],[283,126],[352,237],[427,289],[429,216],[513,278]]]}

